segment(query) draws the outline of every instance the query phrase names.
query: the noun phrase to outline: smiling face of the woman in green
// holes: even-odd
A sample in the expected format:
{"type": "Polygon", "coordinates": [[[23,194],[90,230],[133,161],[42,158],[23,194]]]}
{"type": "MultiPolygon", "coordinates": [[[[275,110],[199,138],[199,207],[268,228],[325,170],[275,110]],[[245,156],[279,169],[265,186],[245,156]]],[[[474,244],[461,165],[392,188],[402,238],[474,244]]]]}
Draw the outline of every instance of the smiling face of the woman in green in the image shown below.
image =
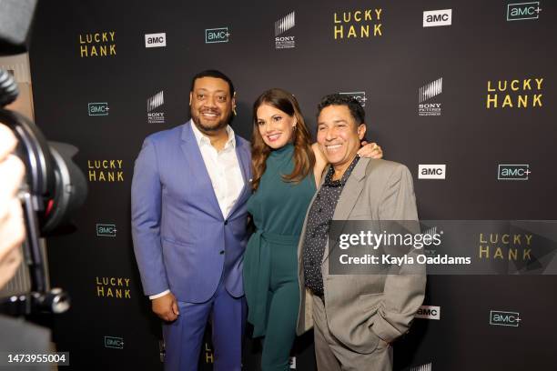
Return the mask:
{"type": "Polygon", "coordinates": [[[278,149],[289,143],[297,120],[279,108],[262,104],[257,110],[257,123],[263,142],[273,149],[278,149]]]}

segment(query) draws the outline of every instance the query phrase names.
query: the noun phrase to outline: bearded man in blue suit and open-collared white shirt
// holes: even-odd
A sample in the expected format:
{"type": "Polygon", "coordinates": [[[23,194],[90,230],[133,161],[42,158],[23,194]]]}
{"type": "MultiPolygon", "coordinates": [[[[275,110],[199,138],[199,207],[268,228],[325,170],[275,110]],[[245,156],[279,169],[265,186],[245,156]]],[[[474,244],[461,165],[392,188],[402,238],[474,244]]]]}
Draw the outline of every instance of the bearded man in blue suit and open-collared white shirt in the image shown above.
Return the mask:
{"type": "Polygon", "coordinates": [[[242,255],[251,192],[249,143],[228,125],[228,76],[192,79],[191,120],[147,136],[132,181],[132,236],[144,292],[165,321],[166,370],[197,370],[208,319],[215,370],[241,369],[242,255]]]}

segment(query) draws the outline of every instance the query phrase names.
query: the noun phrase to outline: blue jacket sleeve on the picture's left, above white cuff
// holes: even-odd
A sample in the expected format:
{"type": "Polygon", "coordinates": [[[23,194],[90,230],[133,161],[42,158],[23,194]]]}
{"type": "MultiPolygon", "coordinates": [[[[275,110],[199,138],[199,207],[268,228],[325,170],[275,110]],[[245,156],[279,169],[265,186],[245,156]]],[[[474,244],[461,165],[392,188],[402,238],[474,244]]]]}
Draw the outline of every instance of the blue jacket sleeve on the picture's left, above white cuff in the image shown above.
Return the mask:
{"type": "Polygon", "coordinates": [[[160,241],[161,198],[157,151],[147,138],[137,156],[131,189],[134,252],[147,296],[169,289],[160,241]]]}

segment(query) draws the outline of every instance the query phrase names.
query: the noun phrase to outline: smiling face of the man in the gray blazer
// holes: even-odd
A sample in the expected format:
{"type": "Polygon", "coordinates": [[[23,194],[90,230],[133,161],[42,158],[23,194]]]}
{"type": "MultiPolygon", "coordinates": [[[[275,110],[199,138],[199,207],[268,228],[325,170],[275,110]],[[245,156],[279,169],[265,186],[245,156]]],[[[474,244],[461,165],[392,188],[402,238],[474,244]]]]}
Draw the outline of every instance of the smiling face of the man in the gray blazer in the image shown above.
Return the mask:
{"type": "Polygon", "coordinates": [[[317,140],[335,171],[348,168],[365,133],[366,125],[356,124],[347,105],[328,105],[319,113],[317,140]]]}

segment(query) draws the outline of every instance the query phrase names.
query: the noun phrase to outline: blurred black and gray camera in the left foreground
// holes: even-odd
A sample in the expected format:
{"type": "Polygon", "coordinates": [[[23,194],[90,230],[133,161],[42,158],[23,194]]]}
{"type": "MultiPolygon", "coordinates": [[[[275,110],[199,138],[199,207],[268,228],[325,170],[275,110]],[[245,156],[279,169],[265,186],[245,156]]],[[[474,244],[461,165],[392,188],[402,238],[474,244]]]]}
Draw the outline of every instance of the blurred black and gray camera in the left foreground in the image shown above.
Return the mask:
{"type": "MultiPolygon", "coordinates": [[[[0,55],[26,52],[35,5],[36,0],[0,3],[0,55]]],[[[46,141],[30,119],[5,109],[18,94],[13,76],[0,69],[0,124],[9,127],[18,139],[15,155],[26,169],[19,192],[26,230],[23,264],[3,291],[9,295],[0,297],[0,313],[63,313],[69,308],[69,296],[60,288],[50,287],[42,237],[75,229],[69,218],[86,199],[86,178],[72,161],[77,153],[75,146],[46,141]]]]}

